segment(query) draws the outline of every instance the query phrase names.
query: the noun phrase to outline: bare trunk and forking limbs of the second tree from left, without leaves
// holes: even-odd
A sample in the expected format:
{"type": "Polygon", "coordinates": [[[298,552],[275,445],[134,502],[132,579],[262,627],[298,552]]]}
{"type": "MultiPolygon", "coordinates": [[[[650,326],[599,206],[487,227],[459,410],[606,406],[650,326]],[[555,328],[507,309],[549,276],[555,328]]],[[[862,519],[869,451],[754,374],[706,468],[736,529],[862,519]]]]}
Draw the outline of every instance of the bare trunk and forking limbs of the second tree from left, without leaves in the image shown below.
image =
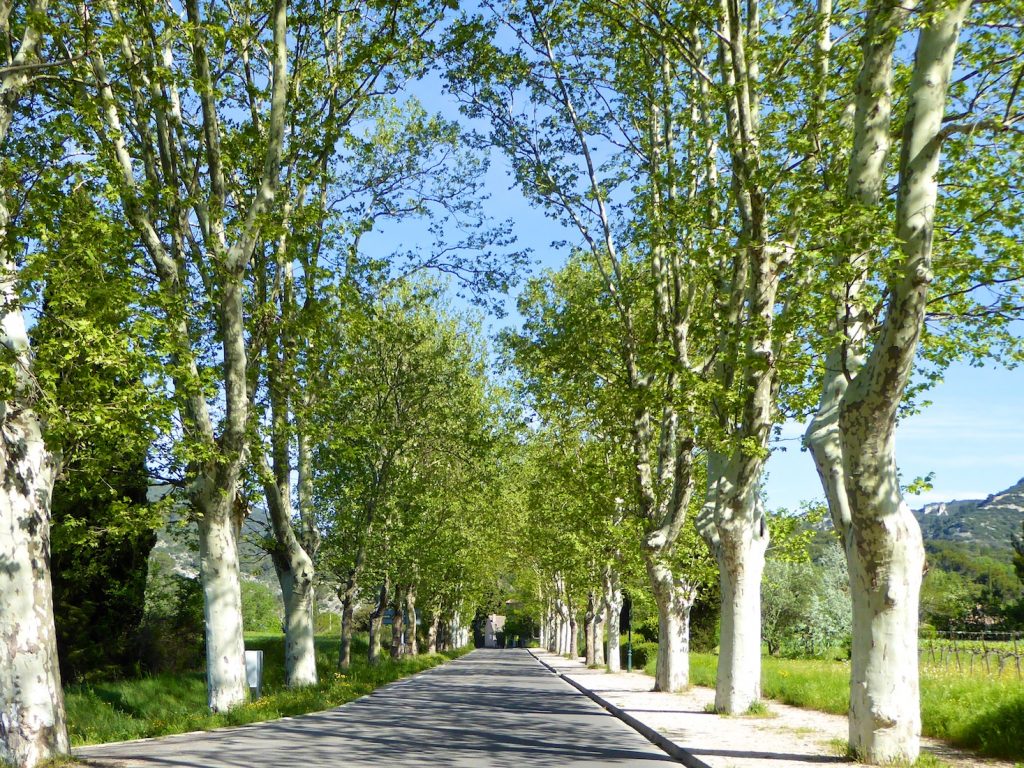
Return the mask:
{"type": "MultiPolygon", "coordinates": [[[[159,281],[160,292],[168,307],[166,330],[173,345],[172,367],[175,397],[179,403],[184,431],[202,446],[209,457],[189,468],[189,495],[199,515],[200,572],[205,598],[204,613],[207,636],[207,684],[210,708],[220,712],[244,702],[248,696],[245,680],[244,643],[242,639],[241,589],[238,563],[238,527],[232,506],[238,490],[241,468],[249,453],[248,359],[244,328],[243,292],[245,275],[267,214],[271,211],[280,183],[281,158],[285,137],[285,106],[288,94],[288,6],[286,0],[275,0],[269,14],[272,29],[270,50],[270,114],[266,123],[262,169],[256,188],[248,201],[239,206],[241,220],[228,243],[225,221],[226,182],[220,151],[221,128],[217,115],[216,93],[208,57],[207,31],[200,15],[197,0],[186,0],[185,15],[189,22],[189,49],[193,77],[201,106],[201,146],[206,176],[195,195],[191,213],[202,226],[205,249],[203,260],[212,262],[215,285],[207,286],[202,301],[215,301],[214,312],[220,342],[223,421],[221,433],[216,433],[211,407],[204,398],[199,382],[199,355],[209,339],[200,338],[202,322],[195,322],[187,312],[195,308],[189,288],[182,281],[196,264],[189,264],[191,250],[190,214],[170,203],[171,210],[153,207],[152,197],[139,182],[141,168],[151,185],[181,189],[194,186],[190,175],[181,178],[172,167],[157,163],[158,142],[148,131],[126,129],[122,106],[135,111],[134,125],[150,126],[151,117],[159,131],[164,131],[162,145],[166,148],[166,131],[181,125],[180,102],[176,86],[166,91],[143,89],[134,78],[153,76],[146,73],[142,59],[134,52],[135,41],[124,36],[121,50],[133,65],[126,75],[132,88],[131,102],[119,102],[111,87],[103,54],[96,48],[89,51],[89,65],[96,89],[96,106],[103,125],[99,138],[103,151],[113,160],[111,181],[122,201],[126,217],[136,229],[147,252],[159,281]],[[150,99],[145,101],[145,99],[150,99]],[[144,113],[144,114],[142,114],[144,113]],[[129,147],[138,150],[132,156],[129,147]],[[169,222],[167,231],[162,219],[169,222]],[[194,332],[196,336],[194,336],[194,332]]],[[[170,51],[164,51],[162,66],[173,67],[170,51]]],[[[167,82],[161,76],[160,80],[167,82]]],[[[173,197],[173,196],[172,196],[173,197]]],[[[202,271],[202,269],[201,269],[202,271]]],[[[218,408],[220,404],[218,403],[218,408]]]]}

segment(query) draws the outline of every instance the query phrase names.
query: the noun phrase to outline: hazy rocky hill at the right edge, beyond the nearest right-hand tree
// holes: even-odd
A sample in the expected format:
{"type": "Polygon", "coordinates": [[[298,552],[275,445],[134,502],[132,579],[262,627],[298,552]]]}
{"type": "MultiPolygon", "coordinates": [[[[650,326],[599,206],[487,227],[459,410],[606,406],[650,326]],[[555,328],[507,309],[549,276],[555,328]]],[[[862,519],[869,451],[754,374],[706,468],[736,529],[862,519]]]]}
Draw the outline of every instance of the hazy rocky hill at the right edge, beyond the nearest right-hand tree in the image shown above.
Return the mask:
{"type": "Polygon", "coordinates": [[[957,542],[1010,550],[1010,537],[1020,534],[1024,520],[1024,477],[987,499],[927,504],[913,514],[926,542],[957,542]]]}

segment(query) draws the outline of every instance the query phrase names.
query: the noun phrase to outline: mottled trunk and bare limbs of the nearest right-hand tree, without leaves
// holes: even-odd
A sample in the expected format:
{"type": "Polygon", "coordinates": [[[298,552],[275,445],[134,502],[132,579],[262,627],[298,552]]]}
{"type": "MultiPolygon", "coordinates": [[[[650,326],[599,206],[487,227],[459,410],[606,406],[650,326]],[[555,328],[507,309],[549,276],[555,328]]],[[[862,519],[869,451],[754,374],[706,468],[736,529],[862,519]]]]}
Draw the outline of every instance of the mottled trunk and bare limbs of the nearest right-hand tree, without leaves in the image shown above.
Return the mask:
{"type": "MultiPolygon", "coordinates": [[[[893,53],[912,6],[869,9],[847,188],[848,198],[861,205],[881,201],[893,53]]],[[[929,4],[924,16],[899,162],[895,229],[902,259],[889,279],[885,319],[873,343],[862,341],[859,285],[851,287],[840,312],[845,348],[829,354],[818,413],[807,434],[846,543],[853,597],[850,746],[870,763],[912,762],[920,753],[918,610],[924,548],[899,488],[895,423],[924,325],[942,119],[969,8],[970,0],[948,7],[929,4]],[[848,317],[853,319],[849,326],[844,325],[848,317]],[[847,385],[838,371],[852,381],[847,385]]],[[[854,265],[867,263],[855,249],[848,258],[854,265]]]]}

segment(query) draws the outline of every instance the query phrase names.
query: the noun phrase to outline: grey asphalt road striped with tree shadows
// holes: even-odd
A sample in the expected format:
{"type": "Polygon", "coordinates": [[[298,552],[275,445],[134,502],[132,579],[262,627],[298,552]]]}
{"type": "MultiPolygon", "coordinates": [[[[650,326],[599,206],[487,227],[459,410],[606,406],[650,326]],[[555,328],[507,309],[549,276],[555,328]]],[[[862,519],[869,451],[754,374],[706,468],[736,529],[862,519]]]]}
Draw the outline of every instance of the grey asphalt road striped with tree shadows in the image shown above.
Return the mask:
{"type": "Polygon", "coordinates": [[[88,746],[136,768],[678,765],[525,650],[476,650],[328,712],[88,746]]]}

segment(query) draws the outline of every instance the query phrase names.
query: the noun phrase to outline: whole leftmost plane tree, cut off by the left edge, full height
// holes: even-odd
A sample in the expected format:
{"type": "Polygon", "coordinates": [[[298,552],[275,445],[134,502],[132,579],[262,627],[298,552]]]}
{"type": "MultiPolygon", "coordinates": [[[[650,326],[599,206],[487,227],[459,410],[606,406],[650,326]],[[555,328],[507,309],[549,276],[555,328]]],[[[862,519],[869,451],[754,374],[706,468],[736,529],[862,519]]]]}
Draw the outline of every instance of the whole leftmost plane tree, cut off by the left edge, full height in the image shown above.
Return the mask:
{"type": "Polygon", "coordinates": [[[0,760],[32,768],[67,753],[50,583],[50,495],[58,457],[43,442],[12,231],[20,157],[12,125],[41,57],[45,2],[0,3],[0,760]]]}

